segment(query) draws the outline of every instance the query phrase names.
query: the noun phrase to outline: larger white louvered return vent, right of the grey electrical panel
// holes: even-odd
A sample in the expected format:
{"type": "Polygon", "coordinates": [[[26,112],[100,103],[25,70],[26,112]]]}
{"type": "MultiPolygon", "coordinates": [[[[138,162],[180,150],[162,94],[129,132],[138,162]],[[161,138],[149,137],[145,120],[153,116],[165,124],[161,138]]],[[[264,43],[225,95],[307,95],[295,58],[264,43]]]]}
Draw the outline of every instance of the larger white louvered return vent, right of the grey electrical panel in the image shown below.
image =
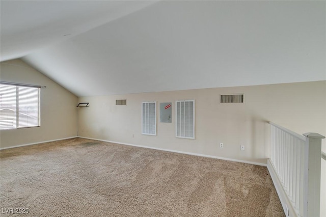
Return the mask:
{"type": "Polygon", "coordinates": [[[195,139],[195,100],[176,101],[176,137],[195,139]]]}

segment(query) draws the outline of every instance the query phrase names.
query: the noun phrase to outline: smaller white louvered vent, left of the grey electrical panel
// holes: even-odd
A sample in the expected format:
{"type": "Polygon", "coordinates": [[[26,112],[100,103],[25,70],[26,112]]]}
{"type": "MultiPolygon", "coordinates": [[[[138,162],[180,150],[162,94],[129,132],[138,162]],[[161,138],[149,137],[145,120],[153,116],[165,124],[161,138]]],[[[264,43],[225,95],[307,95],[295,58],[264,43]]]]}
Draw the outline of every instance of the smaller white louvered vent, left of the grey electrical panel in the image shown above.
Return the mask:
{"type": "Polygon", "coordinates": [[[156,102],[142,103],[142,134],[156,135],[156,102]]]}

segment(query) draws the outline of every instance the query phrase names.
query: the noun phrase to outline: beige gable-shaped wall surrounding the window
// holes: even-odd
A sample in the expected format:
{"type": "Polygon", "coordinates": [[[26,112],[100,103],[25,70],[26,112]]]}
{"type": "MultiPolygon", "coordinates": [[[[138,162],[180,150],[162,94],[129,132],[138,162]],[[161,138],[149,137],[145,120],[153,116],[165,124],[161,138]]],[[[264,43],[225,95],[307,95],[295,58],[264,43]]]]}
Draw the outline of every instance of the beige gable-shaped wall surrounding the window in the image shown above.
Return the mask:
{"type": "Polygon", "coordinates": [[[77,135],[78,98],[21,60],[1,63],[5,82],[46,86],[41,88],[41,126],[0,131],[0,147],[57,140],[77,135]]]}

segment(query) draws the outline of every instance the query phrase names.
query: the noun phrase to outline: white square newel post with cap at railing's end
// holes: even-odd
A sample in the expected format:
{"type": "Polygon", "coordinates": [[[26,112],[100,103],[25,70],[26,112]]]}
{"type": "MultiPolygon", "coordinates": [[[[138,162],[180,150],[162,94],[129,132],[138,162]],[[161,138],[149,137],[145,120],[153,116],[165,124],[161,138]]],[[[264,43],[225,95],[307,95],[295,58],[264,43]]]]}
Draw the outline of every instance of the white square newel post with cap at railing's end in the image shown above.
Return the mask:
{"type": "Polygon", "coordinates": [[[304,172],[304,216],[320,215],[320,170],[321,140],[325,137],[318,133],[307,132],[305,145],[304,172]]]}

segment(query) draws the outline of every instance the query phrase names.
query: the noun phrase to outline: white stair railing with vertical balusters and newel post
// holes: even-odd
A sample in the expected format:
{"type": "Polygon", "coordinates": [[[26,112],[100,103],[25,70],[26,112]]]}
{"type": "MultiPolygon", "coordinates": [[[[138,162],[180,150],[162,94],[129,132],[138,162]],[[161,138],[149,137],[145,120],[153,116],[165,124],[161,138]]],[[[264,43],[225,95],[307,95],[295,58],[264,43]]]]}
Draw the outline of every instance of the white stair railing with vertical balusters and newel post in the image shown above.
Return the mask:
{"type": "Polygon", "coordinates": [[[271,127],[271,156],[267,168],[286,216],[319,216],[321,139],[282,126],[271,127]]]}

